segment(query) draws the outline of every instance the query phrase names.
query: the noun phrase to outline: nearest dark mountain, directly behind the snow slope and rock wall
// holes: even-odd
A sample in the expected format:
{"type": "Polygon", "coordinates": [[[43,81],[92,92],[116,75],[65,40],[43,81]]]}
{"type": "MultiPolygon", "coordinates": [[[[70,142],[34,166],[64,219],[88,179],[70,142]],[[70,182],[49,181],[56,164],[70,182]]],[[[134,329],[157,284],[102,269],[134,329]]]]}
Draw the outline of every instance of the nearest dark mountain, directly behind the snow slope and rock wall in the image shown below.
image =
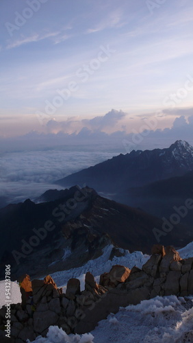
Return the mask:
{"type": "MultiPolygon", "coordinates": [[[[59,200],[41,204],[26,200],[0,210],[2,270],[10,263],[13,278],[25,272],[38,276],[44,270],[77,268],[99,257],[104,246],[113,242],[130,252],[144,253],[150,253],[157,243],[153,228],[162,230],[163,224],[157,217],[102,198],[88,187],[73,187],[67,193],[59,200]],[[70,256],[64,259],[67,248],[70,256]],[[18,264],[13,251],[24,254],[18,257],[18,264]]],[[[162,244],[176,247],[191,241],[189,231],[181,225],[162,238],[162,244]]]]}

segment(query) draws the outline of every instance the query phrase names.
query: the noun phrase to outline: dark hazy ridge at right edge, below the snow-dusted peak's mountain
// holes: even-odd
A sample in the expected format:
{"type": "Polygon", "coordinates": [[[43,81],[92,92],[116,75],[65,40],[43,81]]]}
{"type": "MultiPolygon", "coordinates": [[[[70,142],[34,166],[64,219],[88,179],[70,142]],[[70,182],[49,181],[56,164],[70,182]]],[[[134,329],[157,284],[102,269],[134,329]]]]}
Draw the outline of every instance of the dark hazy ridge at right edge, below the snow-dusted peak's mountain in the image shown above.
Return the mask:
{"type": "MultiPolygon", "coordinates": [[[[175,211],[174,207],[184,206],[187,199],[193,200],[193,171],[143,187],[125,189],[116,194],[118,202],[140,206],[144,211],[158,217],[170,217],[175,211]]],[[[187,215],[181,217],[181,222],[192,227],[193,209],[189,209],[187,215]]]]}

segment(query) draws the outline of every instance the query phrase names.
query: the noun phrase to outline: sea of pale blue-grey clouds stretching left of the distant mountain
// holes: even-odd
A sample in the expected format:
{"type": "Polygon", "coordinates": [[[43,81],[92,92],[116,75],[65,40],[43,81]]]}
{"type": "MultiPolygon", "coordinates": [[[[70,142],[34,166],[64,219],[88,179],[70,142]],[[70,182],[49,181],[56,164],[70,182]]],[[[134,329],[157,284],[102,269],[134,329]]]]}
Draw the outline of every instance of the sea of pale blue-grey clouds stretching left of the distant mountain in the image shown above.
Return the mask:
{"type": "MultiPolygon", "coordinates": [[[[69,174],[116,156],[118,152],[95,150],[36,150],[0,155],[0,205],[36,200],[48,189],[62,189],[54,182],[69,174]]],[[[79,185],[83,186],[83,185],[79,185]]]]}

